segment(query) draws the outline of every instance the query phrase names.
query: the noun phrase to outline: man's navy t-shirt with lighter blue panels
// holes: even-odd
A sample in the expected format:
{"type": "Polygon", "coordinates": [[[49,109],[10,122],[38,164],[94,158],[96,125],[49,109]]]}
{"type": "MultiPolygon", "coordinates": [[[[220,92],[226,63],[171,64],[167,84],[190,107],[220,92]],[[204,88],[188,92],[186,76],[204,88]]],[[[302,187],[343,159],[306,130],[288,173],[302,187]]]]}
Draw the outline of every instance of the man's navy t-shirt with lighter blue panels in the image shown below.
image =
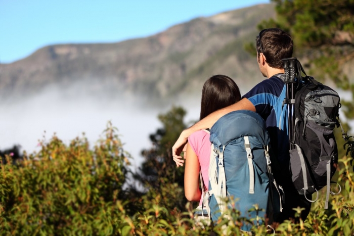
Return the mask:
{"type": "Polygon", "coordinates": [[[242,98],[247,98],[256,108],[256,112],[265,120],[273,154],[282,167],[286,167],[289,163],[289,136],[287,109],[282,109],[286,86],[283,80],[278,77],[281,75],[264,79],[242,98]]]}

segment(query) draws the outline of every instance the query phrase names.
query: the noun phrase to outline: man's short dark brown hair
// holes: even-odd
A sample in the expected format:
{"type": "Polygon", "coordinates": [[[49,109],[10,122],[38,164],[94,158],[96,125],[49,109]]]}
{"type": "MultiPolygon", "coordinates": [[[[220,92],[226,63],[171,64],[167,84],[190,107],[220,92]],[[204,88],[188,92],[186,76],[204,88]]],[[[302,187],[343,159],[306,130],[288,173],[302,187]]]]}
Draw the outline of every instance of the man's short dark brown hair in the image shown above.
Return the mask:
{"type": "Polygon", "coordinates": [[[263,29],[256,37],[257,57],[263,53],[265,62],[276,69],[283,69],[282,59],[292,57],[293,49],[290,34],[281,29],[263,29]]]}

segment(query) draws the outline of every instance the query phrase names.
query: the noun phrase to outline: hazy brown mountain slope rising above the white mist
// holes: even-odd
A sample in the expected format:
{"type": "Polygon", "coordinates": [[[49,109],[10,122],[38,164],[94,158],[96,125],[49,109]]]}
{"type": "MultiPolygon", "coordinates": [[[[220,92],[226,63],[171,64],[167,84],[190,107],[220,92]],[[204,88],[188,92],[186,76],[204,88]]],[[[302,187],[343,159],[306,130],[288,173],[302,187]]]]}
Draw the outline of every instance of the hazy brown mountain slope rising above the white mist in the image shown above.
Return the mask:
{"type": "Polygon", "coordinates": [[[23,60],[0,64],[0,96],[26,97],[50,85],[66,89],[79,83],[77,92],[174,99],[200,94],[213,74],[231,76],[244,92],[261,76],[243,45],[254,40],[261,20],[274,16],[274,5],[257,5],[197,18],[146,38],[46,46],[23,60]]]}

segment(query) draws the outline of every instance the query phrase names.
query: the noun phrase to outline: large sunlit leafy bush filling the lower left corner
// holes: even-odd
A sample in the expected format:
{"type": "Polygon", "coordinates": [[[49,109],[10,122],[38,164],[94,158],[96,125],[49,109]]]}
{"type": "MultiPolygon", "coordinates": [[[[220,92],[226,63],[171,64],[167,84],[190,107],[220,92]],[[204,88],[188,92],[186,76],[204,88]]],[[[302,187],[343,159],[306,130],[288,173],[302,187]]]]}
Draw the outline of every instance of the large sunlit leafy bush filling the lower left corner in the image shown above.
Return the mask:
{"type": "Polygon", "coordinates": [[[129,165],[115,132],[109,123],[93,150],[84,137],[53,136],[19,165],[1,165],[2,234],[112,234],[129,165]]]}

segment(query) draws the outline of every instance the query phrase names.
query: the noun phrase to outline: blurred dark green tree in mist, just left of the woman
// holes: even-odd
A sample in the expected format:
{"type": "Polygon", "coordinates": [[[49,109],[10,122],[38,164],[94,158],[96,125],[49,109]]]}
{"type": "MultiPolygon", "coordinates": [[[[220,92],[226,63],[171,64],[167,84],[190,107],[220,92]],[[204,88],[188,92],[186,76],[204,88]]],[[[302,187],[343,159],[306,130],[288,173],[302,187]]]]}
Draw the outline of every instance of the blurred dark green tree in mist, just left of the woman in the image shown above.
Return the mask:
{"type": "Polygon", "coordinates": [[[135,175],[148,192],[146,197],[155,199],[161,193],[161,202],[167,209],[176,207],[184,209],[186,204],[184,194],[184,171],[183,168],[176,168],[171,156],[171,149],[174,141],[178,139],[180,133],[186,128],[183,121],[186,111],[182,107],[172,107],[165,114],[160,114],[158,119],[163,124],[162,128],[150,135],[153,147],[142,151],[145,158],[141,172],[135,175]],[[170,186],[170,191],[164,192],[162,188],[170,186]],[[171,202],[174,196],[181,196],[171,202]]]}

